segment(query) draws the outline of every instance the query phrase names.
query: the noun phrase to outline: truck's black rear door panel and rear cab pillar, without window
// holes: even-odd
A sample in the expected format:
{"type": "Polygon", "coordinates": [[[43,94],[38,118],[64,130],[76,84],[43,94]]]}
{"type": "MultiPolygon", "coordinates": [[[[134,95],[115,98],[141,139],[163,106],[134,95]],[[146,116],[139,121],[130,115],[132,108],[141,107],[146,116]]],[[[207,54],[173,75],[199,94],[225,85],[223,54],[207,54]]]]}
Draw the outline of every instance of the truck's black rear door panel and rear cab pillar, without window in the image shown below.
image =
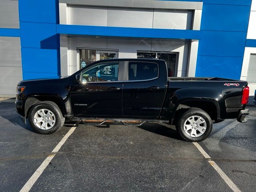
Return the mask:
{"type": "Polygon", "coordinates": [[[124,81],[123,114],[125,118],[158,118],[160,115],[167,88],[167,68],[162,60],[153,61],[158,64],[158,78],[124,81]]]}

